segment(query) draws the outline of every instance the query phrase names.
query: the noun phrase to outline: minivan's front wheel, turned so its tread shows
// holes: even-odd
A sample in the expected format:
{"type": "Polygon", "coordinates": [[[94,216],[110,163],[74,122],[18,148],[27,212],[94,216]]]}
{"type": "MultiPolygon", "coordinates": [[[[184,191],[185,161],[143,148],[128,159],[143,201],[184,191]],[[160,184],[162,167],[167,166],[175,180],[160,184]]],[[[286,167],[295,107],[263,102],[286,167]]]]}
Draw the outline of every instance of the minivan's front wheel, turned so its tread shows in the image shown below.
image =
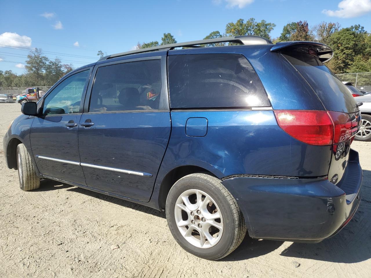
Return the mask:
{"type": "Polygon", "coordinates": [[[29,191],[40,187],[40,178],[37,177],[31,156],[23,144],[17,146],[17,166],[20,189],[29,191]]]}

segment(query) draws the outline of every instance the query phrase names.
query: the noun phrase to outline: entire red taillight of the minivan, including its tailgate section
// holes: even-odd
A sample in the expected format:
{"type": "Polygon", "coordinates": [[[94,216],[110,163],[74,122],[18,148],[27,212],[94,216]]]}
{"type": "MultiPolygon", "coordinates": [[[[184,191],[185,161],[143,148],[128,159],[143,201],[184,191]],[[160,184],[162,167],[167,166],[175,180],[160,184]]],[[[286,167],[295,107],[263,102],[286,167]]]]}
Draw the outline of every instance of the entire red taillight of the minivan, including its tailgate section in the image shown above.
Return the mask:
{"type": "Polygon", "coordinates": [[[275,110],[277,123],[301,142],[326,146],[341,143],[357,132],[347,113],[318,110],[275,110]]]}

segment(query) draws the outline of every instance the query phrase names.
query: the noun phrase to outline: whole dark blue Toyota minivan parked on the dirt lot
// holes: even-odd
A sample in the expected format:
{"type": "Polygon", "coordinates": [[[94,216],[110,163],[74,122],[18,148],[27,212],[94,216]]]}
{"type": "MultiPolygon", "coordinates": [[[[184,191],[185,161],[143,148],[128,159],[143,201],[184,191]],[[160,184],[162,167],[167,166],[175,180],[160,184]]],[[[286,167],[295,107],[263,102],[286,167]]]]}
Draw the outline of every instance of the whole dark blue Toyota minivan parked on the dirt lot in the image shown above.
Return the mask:
{"type": "Polygon", "coordinates": [[[246,231],[320,242],[361,200],[359,104],[324,65],[332,52],[237,36],[104,57],[23,104],[7,165],[24,191],[52,179],[165,211],[205,259],[246,231]]]}

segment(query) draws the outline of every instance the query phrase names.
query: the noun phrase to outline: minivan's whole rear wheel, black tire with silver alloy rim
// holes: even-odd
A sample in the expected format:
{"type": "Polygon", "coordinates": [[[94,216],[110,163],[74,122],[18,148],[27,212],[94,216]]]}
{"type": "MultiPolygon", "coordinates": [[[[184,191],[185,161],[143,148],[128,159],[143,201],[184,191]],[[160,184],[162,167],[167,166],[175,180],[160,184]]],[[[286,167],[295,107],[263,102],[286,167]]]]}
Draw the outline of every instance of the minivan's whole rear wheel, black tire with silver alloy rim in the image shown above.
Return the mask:
{"type": "Polygon", "coordinates": [[[219,179],[204,173],[175,182],[166,200],[166,218],[178,244],[204,259],[227,256],[246,234],[236,199],[219,179]]]}

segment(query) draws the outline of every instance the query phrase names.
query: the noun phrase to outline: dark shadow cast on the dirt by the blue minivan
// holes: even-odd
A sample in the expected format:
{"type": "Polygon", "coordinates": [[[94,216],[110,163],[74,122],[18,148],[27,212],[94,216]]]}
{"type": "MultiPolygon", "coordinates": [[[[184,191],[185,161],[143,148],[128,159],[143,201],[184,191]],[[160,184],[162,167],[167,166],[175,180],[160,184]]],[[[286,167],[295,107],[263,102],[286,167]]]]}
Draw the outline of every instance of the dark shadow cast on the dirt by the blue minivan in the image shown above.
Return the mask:
{"type": "MultiPolygon", "coordinates": [[[[365,170],[363,172],[361,204],[348,225],[334,237],[324,239],[316,244],[293,242],[281,252],[281,256],[342,263],[361,262],[371,258],[371,171],[365,170]]],[[[43,180],[41,182],[42,186],[36,191],[67,188],[67,191],[82,193],[126,208],[166,218],[164,212],[144,205],[56,181],[43,180]]],[[[223,258],[222,261],[241,261],[259,257],[276,250],[282,244],[281,241],[258,240],[246,235],[239,248],[223,258]]]]}

